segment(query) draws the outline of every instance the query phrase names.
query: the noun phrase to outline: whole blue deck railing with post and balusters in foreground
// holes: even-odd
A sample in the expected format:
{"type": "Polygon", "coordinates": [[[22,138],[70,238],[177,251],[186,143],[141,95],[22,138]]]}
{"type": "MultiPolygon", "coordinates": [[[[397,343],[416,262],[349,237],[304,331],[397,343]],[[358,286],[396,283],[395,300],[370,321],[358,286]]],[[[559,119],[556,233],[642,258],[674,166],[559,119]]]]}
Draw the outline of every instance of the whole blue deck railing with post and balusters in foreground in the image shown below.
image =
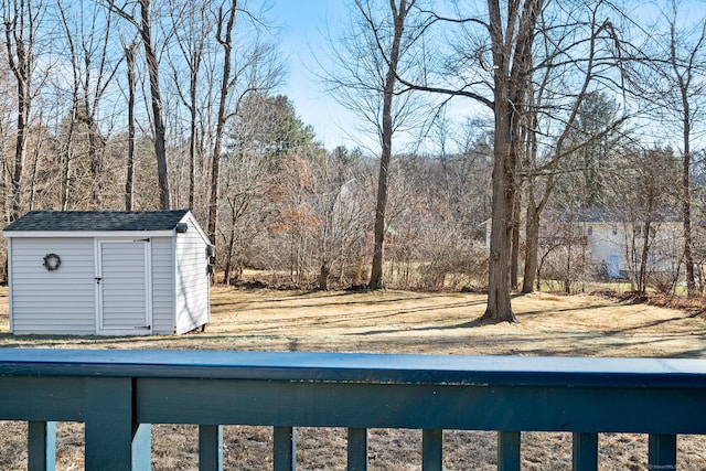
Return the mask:
{"type": "Polygon", "coordinates": [[[347,469],[368,428],[498,430],[500,470],[521,432],[574,432],[574,469],[598,468],[598,432],[649,433],[650,469],[676,469],[676,436],[706,432],[706,361],[265,352],[0,350],[0,419],[29,422],[29,468],[54,468],[56,421],[85,422],[88,470],[148,470],[151,424],[197,424],[200,469],[223,467],[223,425],[274,427],[276,470],[296,427],[344,427],[347,469]]]}

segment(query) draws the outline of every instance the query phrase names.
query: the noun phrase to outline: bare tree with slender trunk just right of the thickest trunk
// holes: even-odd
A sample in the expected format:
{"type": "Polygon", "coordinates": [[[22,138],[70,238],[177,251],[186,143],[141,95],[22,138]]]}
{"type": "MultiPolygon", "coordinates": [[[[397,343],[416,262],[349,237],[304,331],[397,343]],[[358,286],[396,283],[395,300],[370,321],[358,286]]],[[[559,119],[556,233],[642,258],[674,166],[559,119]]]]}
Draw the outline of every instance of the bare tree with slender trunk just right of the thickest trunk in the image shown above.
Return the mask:
{"type": "MultiPolygon", "coordinates": [[[[539,221],[557,184],[557,172],[578,172],[597,178],[593,162],[570,162],[571,156],[587,156],[588,150],[614,136],[628,115],[619,115],[614,103],[603,92],[619,83],[619,47],[610,21],[598,22],[601,4],[570,12],[564,26],[543,31],[543,46],[535,62],[535,83],[523,126],[523,172],[526,178],[526,255],[522,292],[532,292],[538,268],[539,221]],[[618,51],[617,51],[618,49],[618,51]],[[606,84],[607,83],[607,84],[606,84]],[[556,89],[564,90],[557,97],[556,89]],[[609,110],[607,108],[610,108],[609,110]],[[537,139],[537,135],[552,137],[537,139]],[[544,142],[543,142],[544,141],[544,142]]],[[[543,21],[544,24],[544,21],[543,21]]],[[[581,202],[584,208],[598,204],[599,182],[592,196],[581,202]]]]}

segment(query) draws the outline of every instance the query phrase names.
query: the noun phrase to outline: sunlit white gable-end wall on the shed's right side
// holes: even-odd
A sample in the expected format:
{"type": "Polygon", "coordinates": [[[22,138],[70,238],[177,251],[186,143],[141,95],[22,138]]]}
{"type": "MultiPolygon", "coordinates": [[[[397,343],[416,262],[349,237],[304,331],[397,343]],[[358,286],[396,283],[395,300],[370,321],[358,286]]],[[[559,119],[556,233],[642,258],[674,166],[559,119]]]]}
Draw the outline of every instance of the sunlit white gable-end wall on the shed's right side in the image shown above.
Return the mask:
{"type": "Polygon", "coordinates": [[[176,333],[208,322],[207,244],[188,218],[189,231],[176,235],[176,333]]]}

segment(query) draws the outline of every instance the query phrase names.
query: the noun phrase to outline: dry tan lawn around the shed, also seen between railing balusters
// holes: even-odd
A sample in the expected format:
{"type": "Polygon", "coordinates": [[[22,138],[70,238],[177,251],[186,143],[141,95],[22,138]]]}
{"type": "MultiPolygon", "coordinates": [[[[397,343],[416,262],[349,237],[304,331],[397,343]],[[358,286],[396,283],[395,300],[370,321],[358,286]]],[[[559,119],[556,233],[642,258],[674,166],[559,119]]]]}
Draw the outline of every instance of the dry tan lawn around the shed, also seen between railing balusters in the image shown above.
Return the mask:
{"type": "MultiPolygon", "coordinates": [[[[475,320],[484,296],[404,291],[350,293],[213,290],[206,331],[180,336],[71,338],[7,333],[0,347],[204,349],[571,356],[706,356],[706,321],[689,312],[592,296],[531,295],[513,301],[517,324],[475,320]]],[[[83,426],[57,425],[57,469],[83,468],[83,426]]],[[[225,468],[271,469],[271,430],[225,427],[225,468]]],[[[0,426],[0,469],[25,469],[25,426],[0,426]]],[[[371,430],[371,470],[420,469],[421,432],[371,430]]],[[[298,429],[298,469],[345,469],[345,430],[298,429]]],[[[523,470],[570,469],[570,436],[523,433],[523,470]]],[[[706,470],[704,437],[680,437],[680,470],[706,470]]],[[[153,427],[153,469],[197,469],[195,426],[153,427]]],[[[496,435],[445,432],[445,469],[496,467],[496,435]]],[[[646,469],[646,437],[600,436],[601,470],[646,469]]]]}

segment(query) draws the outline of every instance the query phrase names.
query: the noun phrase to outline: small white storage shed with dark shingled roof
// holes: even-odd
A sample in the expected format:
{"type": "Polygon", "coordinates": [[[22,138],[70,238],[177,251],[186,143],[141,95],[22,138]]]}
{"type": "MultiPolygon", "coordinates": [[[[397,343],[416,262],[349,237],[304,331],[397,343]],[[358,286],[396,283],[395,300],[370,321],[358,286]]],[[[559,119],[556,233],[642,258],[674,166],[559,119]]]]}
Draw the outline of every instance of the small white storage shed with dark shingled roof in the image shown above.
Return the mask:
{"type": "Polygon", "coordinates": [[[172,334],[210,320],[212,246],[189,210],[32,211],[4,236],[12,333],[172,334]]]}

